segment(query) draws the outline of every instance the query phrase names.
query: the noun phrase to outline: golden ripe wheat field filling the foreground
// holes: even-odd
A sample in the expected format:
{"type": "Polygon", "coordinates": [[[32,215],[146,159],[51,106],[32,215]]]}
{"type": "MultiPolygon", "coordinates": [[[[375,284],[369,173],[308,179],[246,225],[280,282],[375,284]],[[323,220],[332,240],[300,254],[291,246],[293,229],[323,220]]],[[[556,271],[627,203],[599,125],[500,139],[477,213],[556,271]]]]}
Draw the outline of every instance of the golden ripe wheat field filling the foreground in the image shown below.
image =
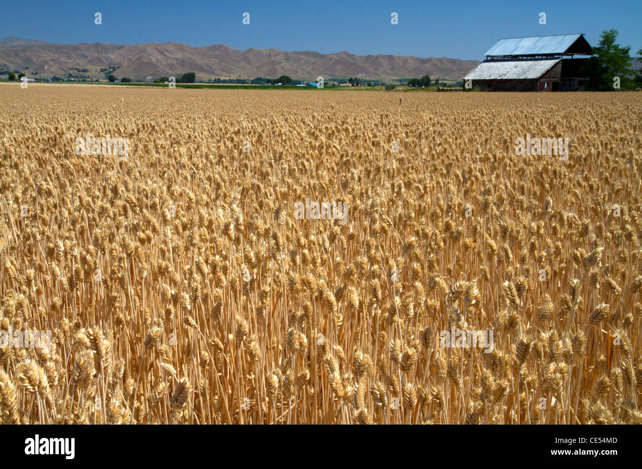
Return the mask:
{"type": "Polygon", "coordinates": [[[641,108],[0,85],[0,422],[642,423],[641,108]]]}

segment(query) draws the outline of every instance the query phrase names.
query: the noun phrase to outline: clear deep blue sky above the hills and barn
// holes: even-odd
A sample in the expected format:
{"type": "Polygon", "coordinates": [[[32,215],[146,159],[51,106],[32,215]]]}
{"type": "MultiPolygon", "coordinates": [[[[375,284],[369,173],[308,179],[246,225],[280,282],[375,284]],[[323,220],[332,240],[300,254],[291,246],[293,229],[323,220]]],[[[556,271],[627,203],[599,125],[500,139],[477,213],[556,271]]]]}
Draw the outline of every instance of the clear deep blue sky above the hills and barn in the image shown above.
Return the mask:
{"type": "Polygon", "coordinates": [[[0,37],[78,44],[184,42],[358,55],[394,54],[482,60],[499,38],[603,30],[642,48],[641,0],[518,1],[5,1],[0,37]],[[94,13],[102,24],[94,24],[94,13]],[[243,13],[250,24],[243,24],[243,13]],[[399,24],[390,23],[396,12],[399,24]],[[539,24],[539,13],[546,24],[539,24]]]}

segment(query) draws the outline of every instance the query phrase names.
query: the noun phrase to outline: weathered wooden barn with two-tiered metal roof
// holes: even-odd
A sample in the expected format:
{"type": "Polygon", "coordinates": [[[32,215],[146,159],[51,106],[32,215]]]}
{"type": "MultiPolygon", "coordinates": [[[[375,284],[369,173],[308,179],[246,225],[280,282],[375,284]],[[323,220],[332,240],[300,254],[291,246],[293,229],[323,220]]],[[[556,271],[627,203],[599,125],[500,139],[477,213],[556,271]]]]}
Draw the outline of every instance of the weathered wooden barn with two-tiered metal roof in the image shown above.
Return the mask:
{"type": "Polygon", "coordinates": [[[471,80],[467,87],[578,91],[587,80],[580,69],[593,53],[584,34],[563,34],[499,39],[484,55],[486,59],[464,77],[464,81],[471,80]]]}

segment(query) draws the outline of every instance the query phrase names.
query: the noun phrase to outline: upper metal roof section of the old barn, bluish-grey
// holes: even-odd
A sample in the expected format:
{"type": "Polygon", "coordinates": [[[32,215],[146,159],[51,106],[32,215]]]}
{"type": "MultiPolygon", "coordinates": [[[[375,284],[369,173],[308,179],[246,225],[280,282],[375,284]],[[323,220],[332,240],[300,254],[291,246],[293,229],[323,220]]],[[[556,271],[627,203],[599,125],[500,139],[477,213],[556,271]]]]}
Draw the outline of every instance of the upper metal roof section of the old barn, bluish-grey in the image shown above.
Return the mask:
{"type": "Polygon", "coordinates": [[[562,55],[565,53],[591,55],[591,46],[582,34],[514,37],[499,39],[497,44],[490,47],[484,55],[562,55]]]}

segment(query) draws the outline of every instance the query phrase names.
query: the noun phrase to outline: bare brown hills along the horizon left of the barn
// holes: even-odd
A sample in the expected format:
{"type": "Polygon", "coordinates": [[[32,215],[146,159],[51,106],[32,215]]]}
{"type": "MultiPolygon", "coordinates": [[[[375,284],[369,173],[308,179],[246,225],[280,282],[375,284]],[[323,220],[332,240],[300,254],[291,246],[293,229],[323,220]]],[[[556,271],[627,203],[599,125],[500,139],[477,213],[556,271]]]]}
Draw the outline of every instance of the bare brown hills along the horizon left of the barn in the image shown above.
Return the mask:
{"type": "Polygon", "coordinates": [[[51,44],[32,39],[0,39],[0,70],[28,75],[74,76],[104,79],[153,80],[195,72],[196,80],[214,78],[276,78],[316,80],[323,76],[363,80],[394,80],[420,77],[461,80],[480,62],[455,58],[421,58],[398,55],[354,55],[347,51],[321,54],[314,51],[286,52],[279,49],[241,51],[223,44],[190,47],[180,42],[159,44],[51,44]]]}

